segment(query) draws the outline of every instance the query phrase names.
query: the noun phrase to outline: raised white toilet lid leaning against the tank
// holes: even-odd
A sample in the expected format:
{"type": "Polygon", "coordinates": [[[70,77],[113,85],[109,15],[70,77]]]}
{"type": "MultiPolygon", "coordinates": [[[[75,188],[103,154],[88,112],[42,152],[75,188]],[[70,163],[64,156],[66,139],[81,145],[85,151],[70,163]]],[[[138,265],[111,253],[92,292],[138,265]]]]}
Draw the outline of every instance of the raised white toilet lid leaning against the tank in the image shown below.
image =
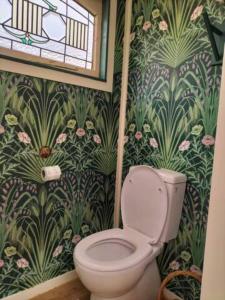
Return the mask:
{"type": "Polygon", "coordinates": [[[131,168],[121,194],[124,227],[135,229],[157,243],[162,234],[168,208],[166,185],[149,166],[131,168]]]}

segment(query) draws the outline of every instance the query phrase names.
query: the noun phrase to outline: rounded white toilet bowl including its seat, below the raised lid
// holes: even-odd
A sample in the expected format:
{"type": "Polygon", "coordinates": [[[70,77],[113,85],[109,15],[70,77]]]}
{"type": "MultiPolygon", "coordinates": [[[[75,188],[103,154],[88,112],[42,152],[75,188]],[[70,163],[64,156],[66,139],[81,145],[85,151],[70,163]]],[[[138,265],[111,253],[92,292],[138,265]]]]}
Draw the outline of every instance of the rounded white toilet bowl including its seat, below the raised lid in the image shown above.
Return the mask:
{"type": "Polygon", "coordinates": [[[136,286],[159,251],[160,247],[152,247],[147,237],[132,229],[111,229],[85,238],[74,260],[81,281],[98,296],[91,299],[117,299],[136,286]]]}

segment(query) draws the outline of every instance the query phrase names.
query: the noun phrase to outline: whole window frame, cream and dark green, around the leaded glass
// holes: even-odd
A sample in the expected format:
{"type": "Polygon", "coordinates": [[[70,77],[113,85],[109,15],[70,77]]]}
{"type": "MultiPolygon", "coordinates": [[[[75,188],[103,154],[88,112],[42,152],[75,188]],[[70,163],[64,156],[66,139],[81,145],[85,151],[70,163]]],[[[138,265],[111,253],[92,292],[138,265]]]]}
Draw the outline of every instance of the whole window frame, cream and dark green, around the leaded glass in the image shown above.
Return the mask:
{"type": "MultiPolygon", "coordinates": [[[[96,14],[94,2],[98,0],[91,2],[90,8],[86,6],[90,4],[89,0],[76,1],[78,4],[87,7],[90,12],[96,14]]],[[[26,53],[0,47],[0,70],[111,92],[113,86],[117,0],[103,0],[102,2],[101,41],[98,42],[99,36],[95,33],[97,47],[95,47],[96,53],[94,53],[95,57],[97,55],[100,57],[99,69],[96,67],[94,72],[90,72],[87,69],[76,66],[65,68],[66,65],[64,65],[60,68],[58,63],[54,64],[50,60],[35,56],[32,56],[32,60],[28,60],[31,56],[26,53]],[[44,63],[45,60],[48,64],[44,63]]]]}

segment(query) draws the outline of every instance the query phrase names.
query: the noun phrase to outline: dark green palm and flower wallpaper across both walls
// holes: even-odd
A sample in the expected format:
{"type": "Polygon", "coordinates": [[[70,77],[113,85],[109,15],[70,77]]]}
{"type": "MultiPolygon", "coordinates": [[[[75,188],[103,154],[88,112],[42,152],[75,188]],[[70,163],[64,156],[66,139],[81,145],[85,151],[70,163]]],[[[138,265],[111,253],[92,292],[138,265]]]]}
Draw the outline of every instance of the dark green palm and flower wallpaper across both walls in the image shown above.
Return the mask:
{"type": "MultiPolygon", "coordinates": [[[[113,93],[0,73],[0,298],[71,270],[80,239],[112,227],[125,1],[118,2],[113,93]],[[56,164],[61,179],[43,183],[41,168],[56,164]]],[[[158,259],[162,277],[203,265],[221,81],[205,9],[214,23],[225,21],[223,0],[133,1],[124,176],[148,164],[188,177],[178,237],[158,259]]],[[[199,299],[187,278],[170,287],[199,299]]]]}

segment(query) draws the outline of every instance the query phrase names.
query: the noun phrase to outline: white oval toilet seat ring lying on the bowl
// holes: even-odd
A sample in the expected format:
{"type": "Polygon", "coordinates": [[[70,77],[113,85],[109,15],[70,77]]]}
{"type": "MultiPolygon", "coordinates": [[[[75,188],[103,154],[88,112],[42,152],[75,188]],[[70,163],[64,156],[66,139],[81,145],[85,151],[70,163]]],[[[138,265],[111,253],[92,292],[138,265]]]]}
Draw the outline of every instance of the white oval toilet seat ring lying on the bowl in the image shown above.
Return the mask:
{"type": "Polygon", "coordinates": [[[131,232],[129,229],[109,229],[99,233],[95,233],[86,237],[76,246],[74,250],[74,261],[83,265],[87,269],[91,269],[99,272],[113,272],[126,270],[144,260],[147,256],[153,252],[152,246],[148,243],[149,239],[142,236],[139,233],[131,232]],[[99,261],[91,258],[87,254],[87,249],[98,242],[112,239],[121,240],[129,243],[135,248],[134,252],[128,257],[113,261],[99,261]]]}

